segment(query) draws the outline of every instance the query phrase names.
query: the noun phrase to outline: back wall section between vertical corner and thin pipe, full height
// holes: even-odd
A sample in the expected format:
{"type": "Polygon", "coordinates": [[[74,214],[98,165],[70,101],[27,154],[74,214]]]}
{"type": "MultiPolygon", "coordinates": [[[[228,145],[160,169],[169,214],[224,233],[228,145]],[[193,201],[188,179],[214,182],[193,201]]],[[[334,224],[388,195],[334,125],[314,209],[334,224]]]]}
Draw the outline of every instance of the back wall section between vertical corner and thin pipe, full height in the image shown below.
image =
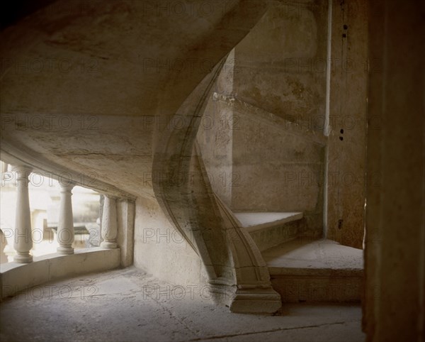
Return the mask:
{"type": "Polygon", "coordinates": [[[278,4],[235,48],[234,96],[267,121],[234,112],[234,211],[302,211],[322,235],[327,4],[278,4]],[[278,120],[278,118],[282,120],[278,120]],[[303,132],[301,132],[303,130],[303,132]]]}

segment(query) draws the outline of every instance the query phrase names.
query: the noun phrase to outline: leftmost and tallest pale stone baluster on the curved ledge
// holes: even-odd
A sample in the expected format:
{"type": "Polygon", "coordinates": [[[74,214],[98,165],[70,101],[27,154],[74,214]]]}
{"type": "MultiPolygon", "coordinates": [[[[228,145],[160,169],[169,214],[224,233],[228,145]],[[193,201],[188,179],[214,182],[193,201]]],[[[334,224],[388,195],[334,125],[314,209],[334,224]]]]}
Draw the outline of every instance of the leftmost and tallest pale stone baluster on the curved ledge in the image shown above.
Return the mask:
{"type": "Polygon", "coordinates": [[[16,172],[16,184],[18,186],[13,242],[13,248],[16,250],[16,255],[13,258],[15,263],[33,262],[33,255],[30,255],[30,250],[33,248],[33,237],[31,234],[30,199],[28,196],[28,176],[31,170],[32,168],[26,165],[13,167],[13,171],[16,172]]]}

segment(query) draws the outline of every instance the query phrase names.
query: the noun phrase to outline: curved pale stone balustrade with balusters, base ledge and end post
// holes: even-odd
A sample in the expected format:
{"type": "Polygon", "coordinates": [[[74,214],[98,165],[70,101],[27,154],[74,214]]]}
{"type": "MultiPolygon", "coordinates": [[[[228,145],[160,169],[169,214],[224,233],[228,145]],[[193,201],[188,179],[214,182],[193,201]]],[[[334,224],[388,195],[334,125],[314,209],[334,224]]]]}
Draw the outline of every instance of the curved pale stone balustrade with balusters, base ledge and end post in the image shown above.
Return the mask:
{"type": "Polygon", "coordinates": [[[33,258],[30,253],[33,248],[33,236],[28,193],[28,177],[32,170],[28,165],[16,165],[12,168],[12,171],[16,172],[17,187],[16,226],[13,233],[16,255],[13,262],[0,265],[1,299],[61,277],[131,265],[132,245],[129,240],[134,228],[134,225],[131,225],[134,220],[134,206],[128,200],[118,202],[116,197],[109,195],[105,195],[103,204],[101,247],[74,251],[72,189],[75,184],[72,182],[61,184],[57,226],[57,242],[60,246],[57,253],[33,258]],[[118,221],[118,211],[121,221],[118,221]],[[119,229],[123,230],[120,234],[119,229]],[[123,248],[118,248],[118,243],[122,243],[123,248]]]}

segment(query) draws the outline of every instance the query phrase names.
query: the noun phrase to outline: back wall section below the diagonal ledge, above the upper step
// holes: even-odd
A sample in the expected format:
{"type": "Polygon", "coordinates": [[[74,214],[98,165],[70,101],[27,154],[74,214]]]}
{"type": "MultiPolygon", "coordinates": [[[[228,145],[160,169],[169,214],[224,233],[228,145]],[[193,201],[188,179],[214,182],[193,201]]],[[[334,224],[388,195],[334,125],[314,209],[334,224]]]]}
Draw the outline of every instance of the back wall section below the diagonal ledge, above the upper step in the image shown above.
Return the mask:
{"type": "MultiPolygon", "coordinates": [[[[232,209],[304,213],[310,236],[322,235],[324,147],[284,123],[235,112],[232,209]]],[[[306,232],[305,232],[306,233],[306,232]]]]}

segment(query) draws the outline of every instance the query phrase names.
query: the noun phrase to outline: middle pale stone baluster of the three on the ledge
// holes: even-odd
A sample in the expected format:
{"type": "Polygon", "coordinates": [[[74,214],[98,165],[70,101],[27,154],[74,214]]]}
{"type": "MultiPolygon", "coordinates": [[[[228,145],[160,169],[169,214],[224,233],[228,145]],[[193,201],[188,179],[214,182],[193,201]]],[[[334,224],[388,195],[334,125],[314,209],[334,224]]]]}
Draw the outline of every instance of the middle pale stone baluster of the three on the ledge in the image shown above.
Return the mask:
{"type": "Polygon", "coordinates": [[[72,218],[72,188],[74,184],[61,184],[59,223],[57,224],[57,253],[74,254],[74,219],[72,218]]]}

